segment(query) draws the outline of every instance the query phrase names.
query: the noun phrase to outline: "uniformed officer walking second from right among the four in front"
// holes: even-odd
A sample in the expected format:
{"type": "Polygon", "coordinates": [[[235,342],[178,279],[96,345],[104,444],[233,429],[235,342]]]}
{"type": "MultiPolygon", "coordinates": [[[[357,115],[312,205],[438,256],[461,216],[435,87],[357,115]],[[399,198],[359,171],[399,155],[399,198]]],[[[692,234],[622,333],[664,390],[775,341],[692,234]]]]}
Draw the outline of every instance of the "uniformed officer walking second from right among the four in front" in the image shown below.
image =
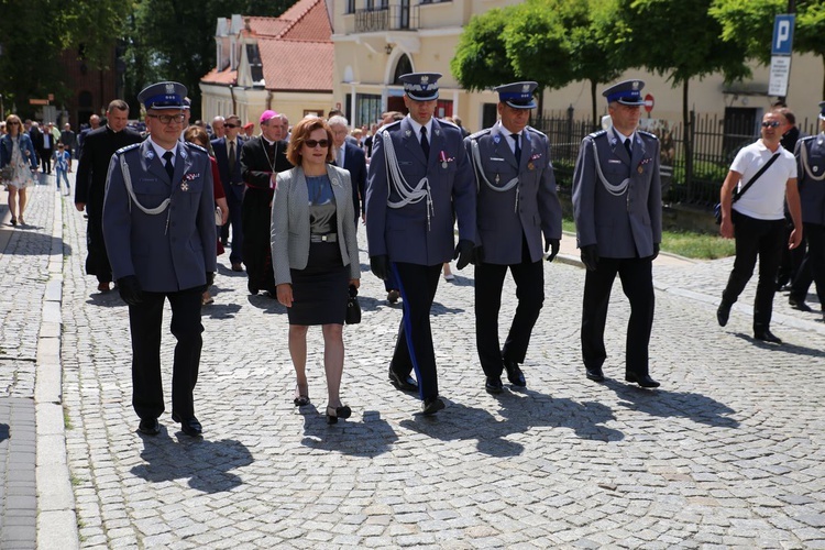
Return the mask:
{"type": "Polygon", "coordinates": [[[530,333],[544,301],[544,252],[552,262],[561,240],[561,205],[550,163],[550,143],[527,125],[536,107],[536,82],[498,86],[493,128],[464,140],[476,177],[475,343],[486,375],[485,389],[502,392],[502,372],[526,386],[524,363],[530,333]],[[502,287],[509,268],[518,307],[504,348],[498,344],[502,287]]]}

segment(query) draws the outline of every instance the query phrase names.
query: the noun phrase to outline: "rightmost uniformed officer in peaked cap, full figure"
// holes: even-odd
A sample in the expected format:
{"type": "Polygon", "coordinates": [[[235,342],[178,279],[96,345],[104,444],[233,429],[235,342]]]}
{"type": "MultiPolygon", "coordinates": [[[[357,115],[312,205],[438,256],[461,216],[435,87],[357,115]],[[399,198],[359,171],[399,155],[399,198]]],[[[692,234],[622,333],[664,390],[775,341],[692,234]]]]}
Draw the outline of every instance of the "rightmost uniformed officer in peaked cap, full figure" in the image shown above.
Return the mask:
{"type": "Polygon", "coordinates": [[[586,376],[604,381],[604,329],[616,274],[630,301],[625,380],[658,387],[648,372],[653,326],[652,262],[662,240],[659,140],[637,130],[645,103],[641,80],[604,90],[613,127],[582,141],[573,174],[573,215],[587,268],[582,310],[586,376]]]}

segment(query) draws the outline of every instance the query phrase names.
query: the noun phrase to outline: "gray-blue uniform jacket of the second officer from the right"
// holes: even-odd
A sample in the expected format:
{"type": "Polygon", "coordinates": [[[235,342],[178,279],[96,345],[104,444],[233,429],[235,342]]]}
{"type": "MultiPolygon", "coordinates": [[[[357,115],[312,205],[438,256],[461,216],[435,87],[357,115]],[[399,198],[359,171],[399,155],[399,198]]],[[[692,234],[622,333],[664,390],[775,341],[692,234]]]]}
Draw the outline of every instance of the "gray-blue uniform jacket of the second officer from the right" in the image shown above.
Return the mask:
{"type": "Polygon", "coordinates": [[[547,135],[526,127],[520,139],[521,162],[516,163],[507,140],[512,141],[502,131],[501,122],[464,140],[479,190],[475,244],[484,248],[484,263],[518,264],[522,260],[524,234],[530,262],[538,262],[542,253],[541,233],[547,240],[561,239],[561,204],[556,194],[550,142],[547,135]],[[479,144],[483,177],[473,154],[474,142],[479,144]],[[490,187],[501,189],[513,178],[518,178],[518,183],[507,191],[490,187]]]}

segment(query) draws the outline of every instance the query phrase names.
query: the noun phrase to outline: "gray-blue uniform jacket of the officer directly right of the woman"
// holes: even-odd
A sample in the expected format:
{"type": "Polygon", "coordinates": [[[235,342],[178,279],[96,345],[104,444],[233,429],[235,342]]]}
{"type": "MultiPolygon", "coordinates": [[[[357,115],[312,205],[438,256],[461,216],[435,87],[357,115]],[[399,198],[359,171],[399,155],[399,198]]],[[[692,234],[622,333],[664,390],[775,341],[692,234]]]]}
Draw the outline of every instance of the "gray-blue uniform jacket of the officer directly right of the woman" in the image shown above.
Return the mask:
{"type": "Polygon", "coordinates": [[[430,133],[429,160],[424,156],[409,118],[382,128],[373,140],[365,201],[371,256],[388,255],[392,262],[418,265],[449,262],[455,246],[455,218],[459,239],[475,242],[475,185],[461,130],[433,119],[430,133]],[[431,205],[427,199],[400,208],[388,205],[402,197],[398,182],[387,172],[384,132],[392,140],[397,167],[407,184],[416,187],[427,177],[431,205]]]}

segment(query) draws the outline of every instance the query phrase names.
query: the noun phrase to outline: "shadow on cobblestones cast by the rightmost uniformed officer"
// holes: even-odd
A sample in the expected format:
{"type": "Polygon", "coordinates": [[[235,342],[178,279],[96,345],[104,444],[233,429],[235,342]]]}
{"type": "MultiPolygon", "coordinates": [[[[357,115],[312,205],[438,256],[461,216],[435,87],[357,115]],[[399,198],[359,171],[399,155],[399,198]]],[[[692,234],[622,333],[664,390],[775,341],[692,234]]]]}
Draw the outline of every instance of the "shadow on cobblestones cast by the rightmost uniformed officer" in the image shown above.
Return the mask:
{"type": "Polygon", "coordinates": [[[663,418],[683,417],[694,422],[717,428],[738,428],[739,421],[730,418],[736,413],[724,403],[691,392],[644,389],[636,385],[608,380],[604,383],[623,399],[620,406],[663,418]]]}

